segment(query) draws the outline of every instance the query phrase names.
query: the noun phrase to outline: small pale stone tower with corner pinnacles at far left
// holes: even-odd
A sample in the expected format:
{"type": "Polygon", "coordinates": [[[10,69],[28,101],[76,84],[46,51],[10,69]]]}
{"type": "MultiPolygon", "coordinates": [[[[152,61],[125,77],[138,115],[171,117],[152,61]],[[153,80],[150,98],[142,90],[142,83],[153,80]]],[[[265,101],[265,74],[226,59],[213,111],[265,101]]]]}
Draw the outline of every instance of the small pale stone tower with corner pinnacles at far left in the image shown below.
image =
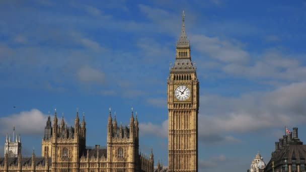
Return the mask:
{"type": "Polygon", "coordinates": [[[15,127],[13,129],[13,141],[11,140],[11,135],[8,138],[8,134],[6,137],[6,142],[4,146],[5,154],[8,154],[8,157],[18,157],[18,154],[21,152],[21,139],[16,135],[16,140],[14,138],[15,135],[15,127]]]}

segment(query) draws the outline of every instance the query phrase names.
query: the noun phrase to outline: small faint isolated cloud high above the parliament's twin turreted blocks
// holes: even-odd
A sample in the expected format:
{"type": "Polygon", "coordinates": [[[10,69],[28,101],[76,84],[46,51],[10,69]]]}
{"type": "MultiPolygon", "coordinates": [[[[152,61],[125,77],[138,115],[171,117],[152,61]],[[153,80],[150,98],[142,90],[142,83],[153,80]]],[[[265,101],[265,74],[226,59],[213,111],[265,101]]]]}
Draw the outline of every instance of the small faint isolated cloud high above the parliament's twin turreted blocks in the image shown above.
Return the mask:
{"type": "Polygon", "coordinates": [[[105,83],[105,73],[88,65],[79,70],[78,77],[83,82],[105,83]]]}

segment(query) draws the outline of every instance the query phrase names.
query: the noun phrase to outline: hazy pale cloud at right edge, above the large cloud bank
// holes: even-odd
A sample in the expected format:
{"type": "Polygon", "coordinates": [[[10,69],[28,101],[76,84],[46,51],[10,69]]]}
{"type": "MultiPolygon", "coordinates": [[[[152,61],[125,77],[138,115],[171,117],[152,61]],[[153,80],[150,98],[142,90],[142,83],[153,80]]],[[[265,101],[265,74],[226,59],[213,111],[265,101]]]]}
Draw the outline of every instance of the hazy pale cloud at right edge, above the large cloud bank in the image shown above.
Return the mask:
{"type": "MultiPolygon", "coordinates": [[[[297,55],[304,58],[305,55],[297,55]]],[[[269,78],[273,80],[297,81],[305,80],[306,67],[293,55],[282,54],[278,51],[268,51],[260,56],[254,64],[245,65],[229,63],[222,70],[248,78],[269,78]]]]}

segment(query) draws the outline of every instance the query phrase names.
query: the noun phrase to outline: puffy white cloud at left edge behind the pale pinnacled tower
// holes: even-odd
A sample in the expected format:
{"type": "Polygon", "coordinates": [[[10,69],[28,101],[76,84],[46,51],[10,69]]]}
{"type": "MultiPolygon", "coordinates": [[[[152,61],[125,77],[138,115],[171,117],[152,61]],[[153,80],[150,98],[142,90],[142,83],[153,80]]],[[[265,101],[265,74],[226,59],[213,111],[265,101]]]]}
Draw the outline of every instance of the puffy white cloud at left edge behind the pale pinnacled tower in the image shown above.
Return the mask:
{"type": "Polygon", "coordinates": [[[0,134],[11,133],[13,126],[20,134],[41,134],[44,132],[48,115],[37,109],[23,111],[6,117],[0,117],[0,134]]]}

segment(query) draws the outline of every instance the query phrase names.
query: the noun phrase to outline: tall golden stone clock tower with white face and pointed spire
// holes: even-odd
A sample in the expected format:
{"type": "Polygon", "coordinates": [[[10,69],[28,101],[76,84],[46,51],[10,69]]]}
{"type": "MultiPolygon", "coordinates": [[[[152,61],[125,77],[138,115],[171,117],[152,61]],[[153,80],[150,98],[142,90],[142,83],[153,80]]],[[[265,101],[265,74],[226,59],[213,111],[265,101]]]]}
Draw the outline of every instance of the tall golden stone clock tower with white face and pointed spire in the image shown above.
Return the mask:
{"type": "Polygon", "coordinates": [[[168,78],[169,171],[198,171],[199,81],[191,61],[183,11],[175,63],[168,78]]]}

